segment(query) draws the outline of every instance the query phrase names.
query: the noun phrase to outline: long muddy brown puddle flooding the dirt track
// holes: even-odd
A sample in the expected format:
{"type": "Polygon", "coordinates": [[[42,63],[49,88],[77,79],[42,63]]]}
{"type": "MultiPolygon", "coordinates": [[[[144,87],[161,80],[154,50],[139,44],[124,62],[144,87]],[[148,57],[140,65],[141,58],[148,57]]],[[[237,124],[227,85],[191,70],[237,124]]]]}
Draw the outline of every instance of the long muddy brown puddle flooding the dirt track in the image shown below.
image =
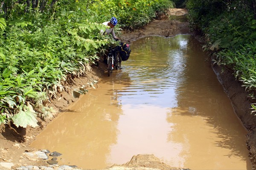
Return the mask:
{"type": "Polygon", "coordinates": [[[191,35],[131,43],[121,70],[70,105],[31,146],[59,164],[100,169],[154,154],[173,167],[251,169],[247,131],[191,35]]]}

